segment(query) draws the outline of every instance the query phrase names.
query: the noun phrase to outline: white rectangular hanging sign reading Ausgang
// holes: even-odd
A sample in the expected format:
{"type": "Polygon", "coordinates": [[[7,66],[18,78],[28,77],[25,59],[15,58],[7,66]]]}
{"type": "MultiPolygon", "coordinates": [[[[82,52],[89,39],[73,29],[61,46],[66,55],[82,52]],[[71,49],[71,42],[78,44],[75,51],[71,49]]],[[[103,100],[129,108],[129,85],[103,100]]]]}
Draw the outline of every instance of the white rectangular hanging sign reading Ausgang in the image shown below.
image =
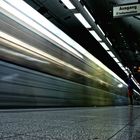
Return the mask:
{"type": "Polygon", "coordinates": [[[113,17],[133,16],[140,14],[139,4],[128,4],[113,7],[113,17]]]}

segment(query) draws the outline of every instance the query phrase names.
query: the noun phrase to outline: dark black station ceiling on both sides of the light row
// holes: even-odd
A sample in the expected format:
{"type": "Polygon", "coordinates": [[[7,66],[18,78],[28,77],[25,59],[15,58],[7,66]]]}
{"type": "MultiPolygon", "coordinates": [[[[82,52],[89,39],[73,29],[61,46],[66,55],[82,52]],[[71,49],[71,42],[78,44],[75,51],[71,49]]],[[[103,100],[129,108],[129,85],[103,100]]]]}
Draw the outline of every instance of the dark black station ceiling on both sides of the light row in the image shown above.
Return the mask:
{"type": "MultiPolygon", "coordinates": [[[[63,30],[108,68],[127,81],[127,76],[79,22],[61,0],[24,0],[63,30]]],[[[113,18],[113,7],[138,3],[138,0],[81,0],[112,43],[124,67],[128,67],[140,83],[140,16],[113,18]]]]}

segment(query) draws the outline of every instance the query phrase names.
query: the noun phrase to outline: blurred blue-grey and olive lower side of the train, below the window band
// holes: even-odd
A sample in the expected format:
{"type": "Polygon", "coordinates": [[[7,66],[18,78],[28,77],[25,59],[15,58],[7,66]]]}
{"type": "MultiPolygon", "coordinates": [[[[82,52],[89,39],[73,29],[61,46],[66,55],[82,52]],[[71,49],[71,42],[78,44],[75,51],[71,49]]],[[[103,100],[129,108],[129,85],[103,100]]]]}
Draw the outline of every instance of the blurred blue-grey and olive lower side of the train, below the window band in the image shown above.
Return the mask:
{"type": "Polygon", "coordinates": [[[104,90],[0,62],[0,106],[125,105],[127,98],[104,90]]]}

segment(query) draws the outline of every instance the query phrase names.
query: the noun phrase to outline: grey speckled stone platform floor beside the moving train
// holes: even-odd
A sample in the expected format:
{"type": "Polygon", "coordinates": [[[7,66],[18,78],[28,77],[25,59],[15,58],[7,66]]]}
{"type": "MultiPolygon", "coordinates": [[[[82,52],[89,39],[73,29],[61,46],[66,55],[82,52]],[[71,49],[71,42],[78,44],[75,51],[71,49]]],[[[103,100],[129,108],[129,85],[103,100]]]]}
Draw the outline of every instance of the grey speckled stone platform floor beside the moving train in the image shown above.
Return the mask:
{"type": "Polygon", "coordinates": [[[140,140],[140,106],[1,109],[0,140],[140,140]]]}

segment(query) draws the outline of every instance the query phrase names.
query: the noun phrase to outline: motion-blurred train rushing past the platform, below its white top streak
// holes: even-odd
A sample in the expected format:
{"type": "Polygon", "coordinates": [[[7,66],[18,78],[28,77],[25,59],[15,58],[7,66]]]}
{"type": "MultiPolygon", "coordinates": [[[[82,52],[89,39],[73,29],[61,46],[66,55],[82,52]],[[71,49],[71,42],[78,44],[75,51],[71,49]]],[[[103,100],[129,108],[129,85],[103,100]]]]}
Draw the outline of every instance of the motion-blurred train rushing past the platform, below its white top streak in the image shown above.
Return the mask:
{"type": "Polygon", "coordinates": [[[29,25],[14,10],[25,13],[7,1],[2,0],[0,7],[0,107],[128,104],[125,83],[100,67],[94,57],[91,60],[50,39],[47,30],[32,26],[42,27],[26,15],[29,25]],[[6,4],[15,8],[12,13],[6,4]]]}

